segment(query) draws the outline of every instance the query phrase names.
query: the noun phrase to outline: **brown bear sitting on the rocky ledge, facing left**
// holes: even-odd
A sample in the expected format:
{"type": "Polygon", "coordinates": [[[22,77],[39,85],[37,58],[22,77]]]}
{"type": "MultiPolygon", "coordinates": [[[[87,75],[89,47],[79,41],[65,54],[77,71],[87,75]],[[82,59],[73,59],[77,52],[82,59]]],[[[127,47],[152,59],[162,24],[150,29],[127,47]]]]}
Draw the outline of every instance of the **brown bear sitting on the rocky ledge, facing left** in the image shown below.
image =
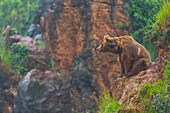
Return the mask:
{"type": "Polygon", "coordinates": [[[151,64],[149,52],[131,36],[110,37],[106,35],[96,50],[118,54],[122,75],[135,75],[148,69],[151,64]]]}

